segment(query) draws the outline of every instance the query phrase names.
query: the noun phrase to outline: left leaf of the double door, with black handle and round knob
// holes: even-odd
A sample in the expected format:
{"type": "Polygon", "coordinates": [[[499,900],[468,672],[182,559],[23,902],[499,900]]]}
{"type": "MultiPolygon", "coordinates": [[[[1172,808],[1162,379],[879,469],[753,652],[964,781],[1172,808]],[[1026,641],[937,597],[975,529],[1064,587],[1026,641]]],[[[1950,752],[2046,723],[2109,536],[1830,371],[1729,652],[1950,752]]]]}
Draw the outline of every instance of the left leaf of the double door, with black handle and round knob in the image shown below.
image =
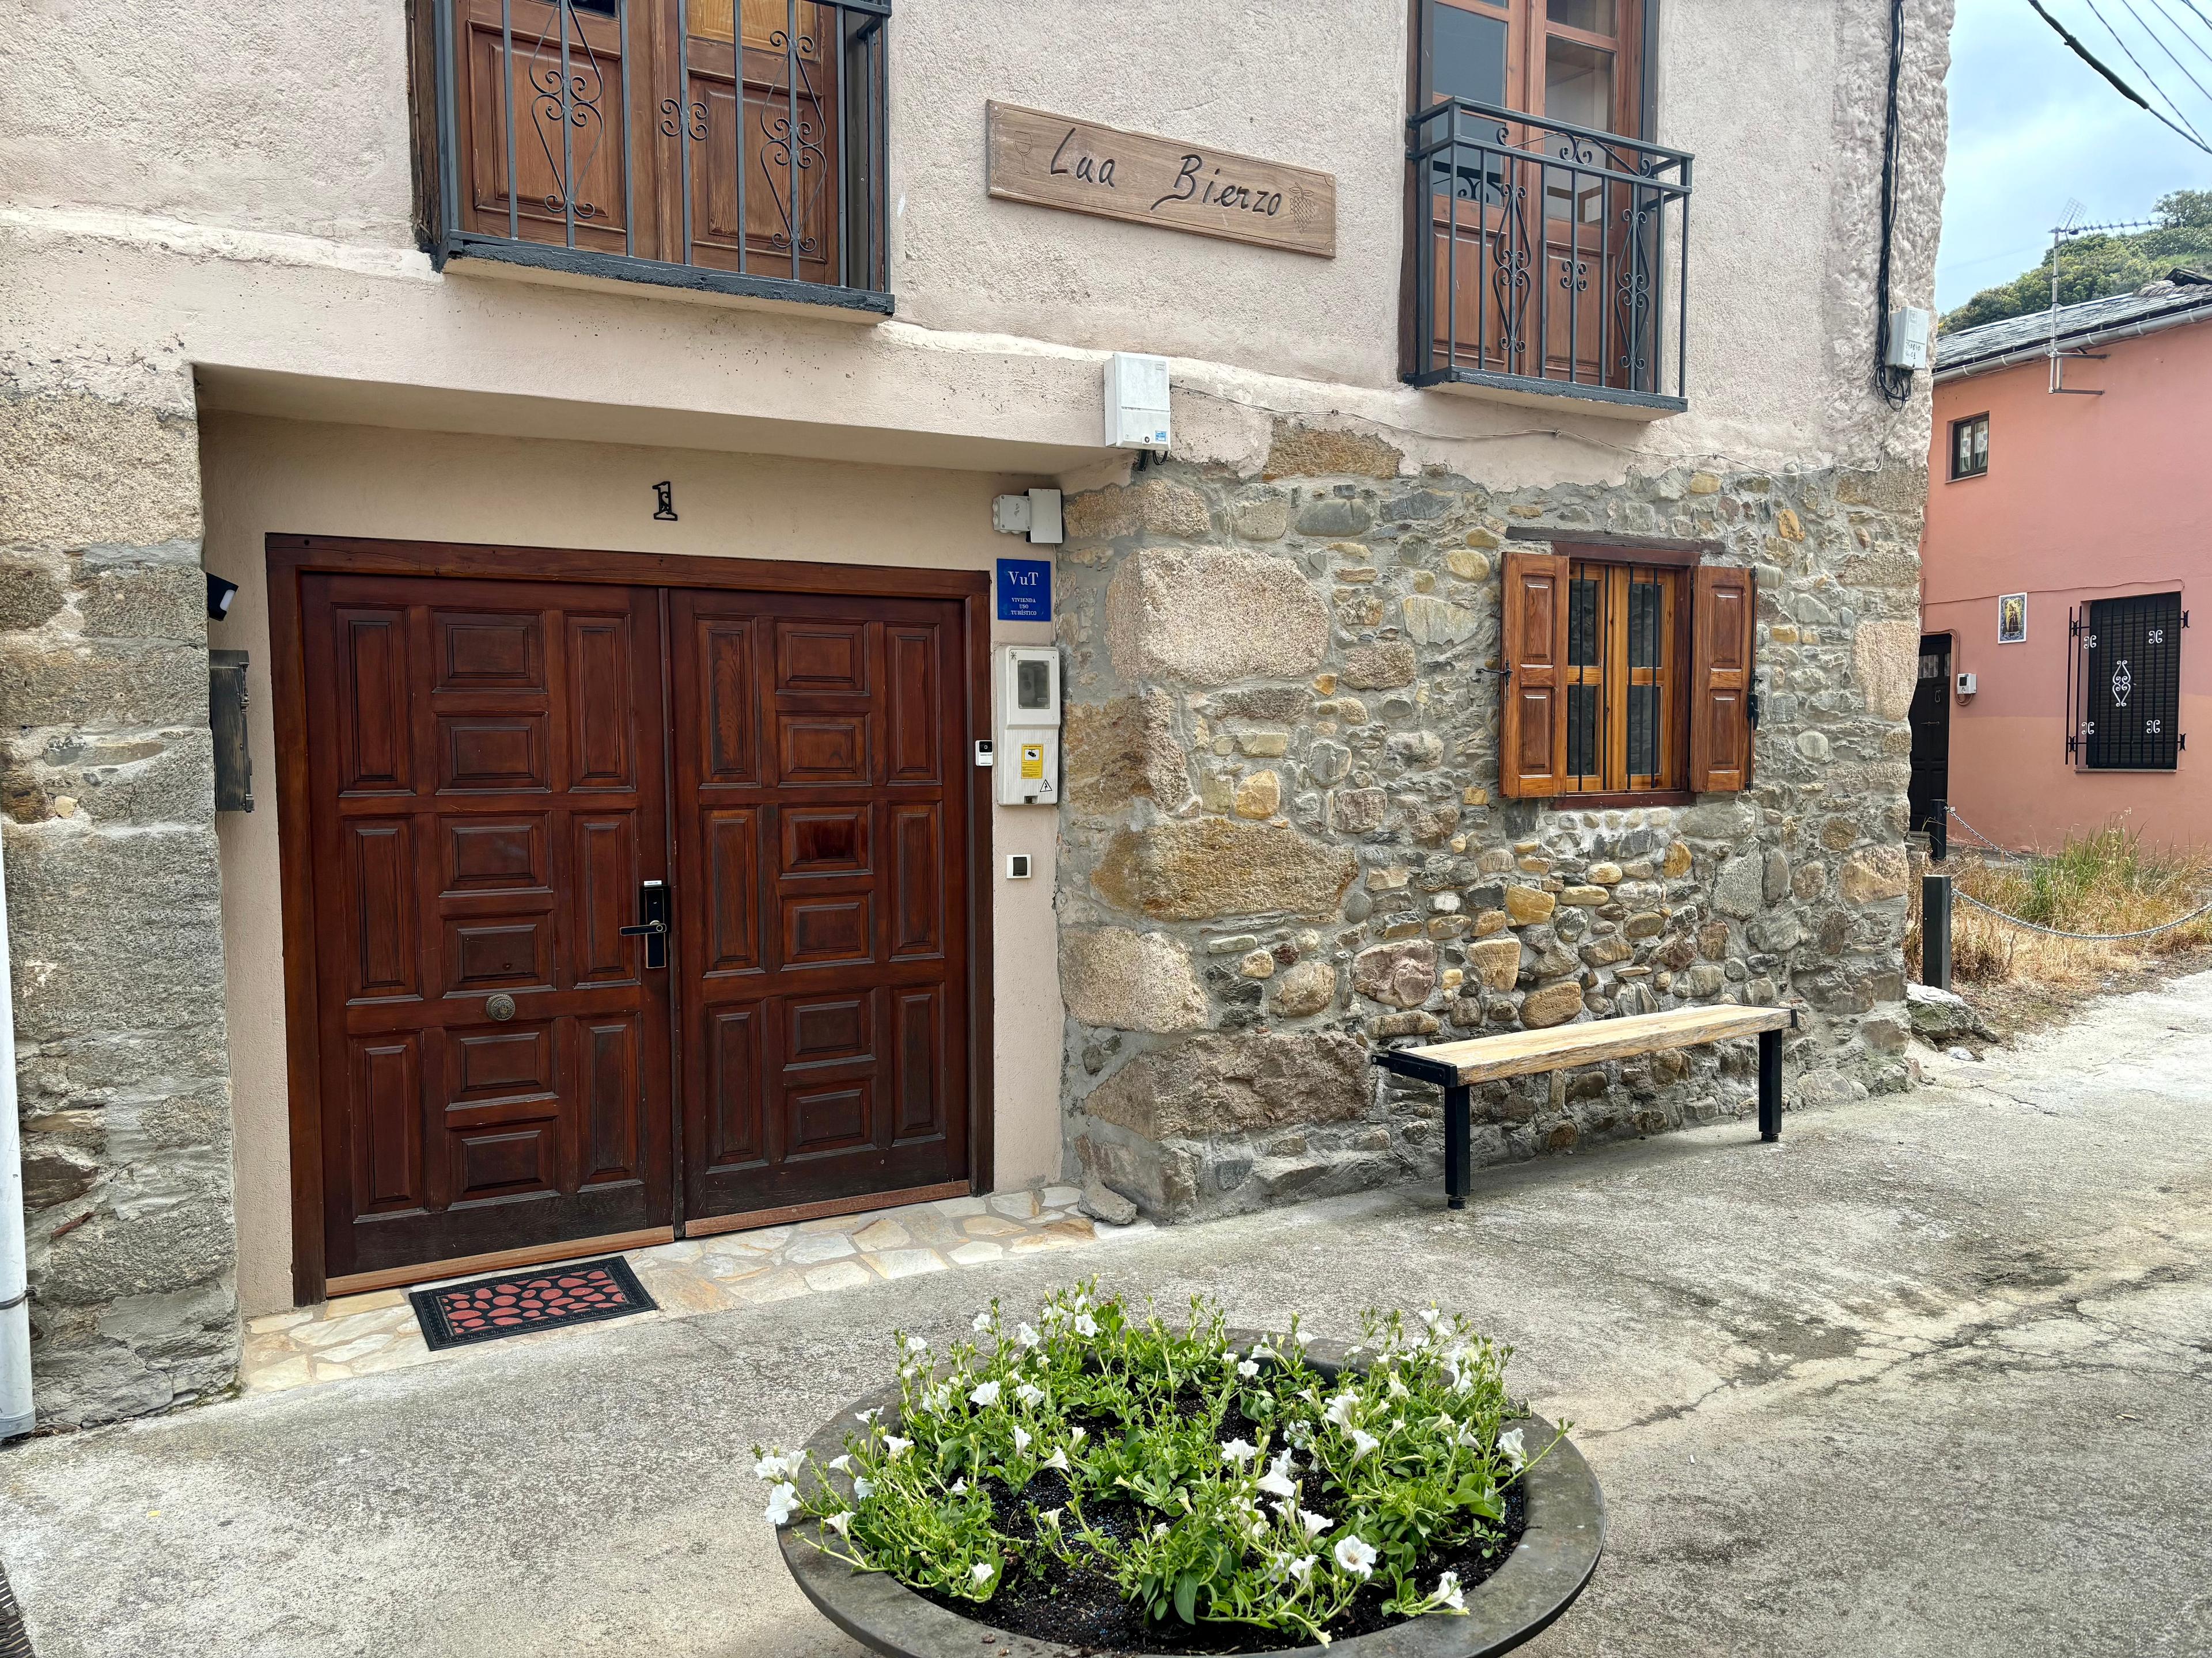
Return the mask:
{"type": "Polygon", "coordinates": [[[668,1225],[653,588],[305,575],[332,1278],[668,1225]]]}

